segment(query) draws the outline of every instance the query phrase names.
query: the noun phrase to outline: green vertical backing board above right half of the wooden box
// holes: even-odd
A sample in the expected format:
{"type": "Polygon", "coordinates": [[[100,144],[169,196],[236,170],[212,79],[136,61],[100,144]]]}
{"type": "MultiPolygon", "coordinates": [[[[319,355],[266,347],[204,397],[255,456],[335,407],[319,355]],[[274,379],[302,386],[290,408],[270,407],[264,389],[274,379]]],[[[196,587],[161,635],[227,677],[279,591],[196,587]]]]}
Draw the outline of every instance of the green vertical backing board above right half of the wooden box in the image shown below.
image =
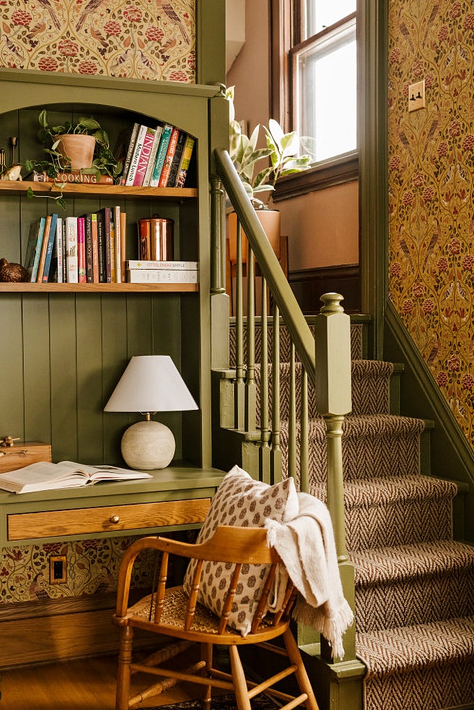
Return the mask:
{"type": "Polygon", "coordinates": [[[51,441],[50,312],[47,294],[23,295],[25,437],[51,441]]]}

